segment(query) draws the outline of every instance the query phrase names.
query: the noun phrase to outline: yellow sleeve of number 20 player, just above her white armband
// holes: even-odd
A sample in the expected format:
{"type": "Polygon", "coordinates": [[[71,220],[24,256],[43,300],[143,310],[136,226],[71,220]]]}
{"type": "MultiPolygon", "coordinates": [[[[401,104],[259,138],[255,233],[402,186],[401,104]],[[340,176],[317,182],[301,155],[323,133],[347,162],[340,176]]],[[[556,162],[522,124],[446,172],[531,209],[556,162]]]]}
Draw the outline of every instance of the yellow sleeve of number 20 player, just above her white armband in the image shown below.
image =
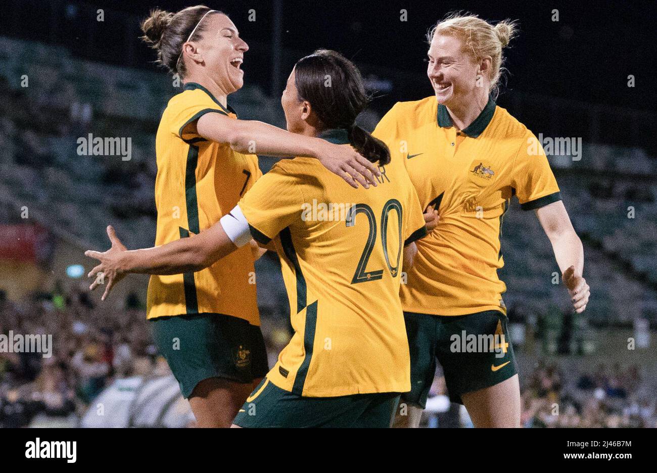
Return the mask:
{"type": "Polygon", "coordinates": [[[301,218],[302,185],[300,176],[288,173],[277,163],[244,194],[238,205],[254,240],[267,244],[301,218]]]}

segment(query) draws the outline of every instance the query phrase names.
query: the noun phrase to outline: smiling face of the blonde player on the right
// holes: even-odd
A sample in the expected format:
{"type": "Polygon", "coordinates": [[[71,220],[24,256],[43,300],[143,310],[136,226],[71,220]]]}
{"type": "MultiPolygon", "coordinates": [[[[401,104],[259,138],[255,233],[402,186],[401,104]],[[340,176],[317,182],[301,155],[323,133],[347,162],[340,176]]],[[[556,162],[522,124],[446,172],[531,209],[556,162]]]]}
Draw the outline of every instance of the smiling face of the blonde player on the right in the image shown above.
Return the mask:
{"type": "Polygon", "coordinates": [[[484,77],[479,83],[477,81],[480,64],[465,51],[461,39],[436,34],[427,55],[429,64],[426,74],[440,104],[461,108],[461,104],[476,96],[480,87],[486,87],[482,83],[484,77]]]}

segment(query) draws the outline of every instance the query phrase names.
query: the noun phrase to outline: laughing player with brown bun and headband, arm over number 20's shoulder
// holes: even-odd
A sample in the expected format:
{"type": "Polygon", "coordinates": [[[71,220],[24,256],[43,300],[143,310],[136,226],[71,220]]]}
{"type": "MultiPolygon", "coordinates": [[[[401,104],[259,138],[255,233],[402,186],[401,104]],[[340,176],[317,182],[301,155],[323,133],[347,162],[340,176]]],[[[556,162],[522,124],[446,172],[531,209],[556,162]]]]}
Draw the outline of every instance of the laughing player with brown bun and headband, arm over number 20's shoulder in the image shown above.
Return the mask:
{"type": "MultiPolygon", "coordinates": [[[[184,83],[156,136],[157,245],[198,235],[235,207],[261,175],[256,152],[318,158],[355,187],[376,185],[376,166],[348,146],[236,119],[227,96],[243,85],[248,45],[228,16],[202,5],[155,10],[141,27],[158,62],[184,83]]],[[[148,284],[156,344],[199,426],[230,426],[267,372],[253,271],[250,249],[240,248],[221,265],[148,284]]]]}

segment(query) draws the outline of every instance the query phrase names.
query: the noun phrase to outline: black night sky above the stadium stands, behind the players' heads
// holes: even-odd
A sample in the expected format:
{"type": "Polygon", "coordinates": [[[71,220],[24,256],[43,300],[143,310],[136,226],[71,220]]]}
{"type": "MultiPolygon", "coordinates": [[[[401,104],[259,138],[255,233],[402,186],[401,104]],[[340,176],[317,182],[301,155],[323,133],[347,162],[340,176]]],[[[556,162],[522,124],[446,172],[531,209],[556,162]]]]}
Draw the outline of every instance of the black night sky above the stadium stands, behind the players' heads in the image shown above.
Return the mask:
{"type": "MultiPolygon", "coordinates": [[[[84,58],[154,69],[154,51],[137,39],[139,20],[152,7],[175,12],[196,5],[168,0],[71,3],[76,5],[70,7],[72,13],[62,18],[60,12],[70,4],[66,0],[9,0],[5,9],[9,13],[0,19],[0,29],[5,35],[64,45],[84,58]],[[99,8],[104,10],[104,22],[95,21],[99,8]]],[[[432,94],[425,76],[425,35],[447,12],[518,20],[520,34],[505,50],[509,74],[498,101],[501,106],[530,129],[657,152],[653,138],[657,14],[649,2],[282,0],[282,49],[273,43],[275,2],[208,0],[205,4],[229,14],[249,43],[242,66],[246,84],[260,85],[265,93],[278,97],[298,58],[317,48],[336,49],[354,60],[364,75],[392,81],[392,89],[378,93],[373,104],[379,114],[396,101],[432,94]],[[256,11],[255,22],[248,21],[250,9],[256,11]],[[407,10],[406,22],[399,20],[401,9],[407,10]],[[554,9],[558,22],[552,20],[554,9]],[[272,64],[277,54],[281,62],[276,75],[272,64]],[[627,87],[630,74],[635,76],[635,87],[627,87]],[[532,102],[526,95],[553,99],[548,107],[554,113],[527,110],[537,105],[528,106],[532,102]],[[525,110],[520,110],[521,103],[525,110]],[[606,109],[591,125],[587,114],[596,104],[606,109]]]]}

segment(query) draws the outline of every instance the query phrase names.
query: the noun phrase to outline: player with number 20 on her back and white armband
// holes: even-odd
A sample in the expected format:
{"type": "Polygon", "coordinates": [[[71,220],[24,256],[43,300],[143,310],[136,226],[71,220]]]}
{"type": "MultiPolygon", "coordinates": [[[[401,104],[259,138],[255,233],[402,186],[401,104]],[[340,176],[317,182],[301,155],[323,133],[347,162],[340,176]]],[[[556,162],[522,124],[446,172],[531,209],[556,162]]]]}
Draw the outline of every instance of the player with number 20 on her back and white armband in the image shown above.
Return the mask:
{"type": "Polygon", "coordinates": [[[388,427],[399,393],[411,388],[402,252],[426,231],[403,164],[388,164],[388,148],[354,125],[367,101],[357,68],[334,51],[299,60],[281,99],[289,131],[353,145],[378,163],[376,189],[353,189],[317,160],[282,160],[193,238],[126,251],[109,231],[110,250],[85,253],[101,261],[90,275],[102,272],[112,284],[127,272],[219,267],[227,259],[213,263],[252,237],[275,239],[294,336],[246,399],[237,426],[388,427]]]}

